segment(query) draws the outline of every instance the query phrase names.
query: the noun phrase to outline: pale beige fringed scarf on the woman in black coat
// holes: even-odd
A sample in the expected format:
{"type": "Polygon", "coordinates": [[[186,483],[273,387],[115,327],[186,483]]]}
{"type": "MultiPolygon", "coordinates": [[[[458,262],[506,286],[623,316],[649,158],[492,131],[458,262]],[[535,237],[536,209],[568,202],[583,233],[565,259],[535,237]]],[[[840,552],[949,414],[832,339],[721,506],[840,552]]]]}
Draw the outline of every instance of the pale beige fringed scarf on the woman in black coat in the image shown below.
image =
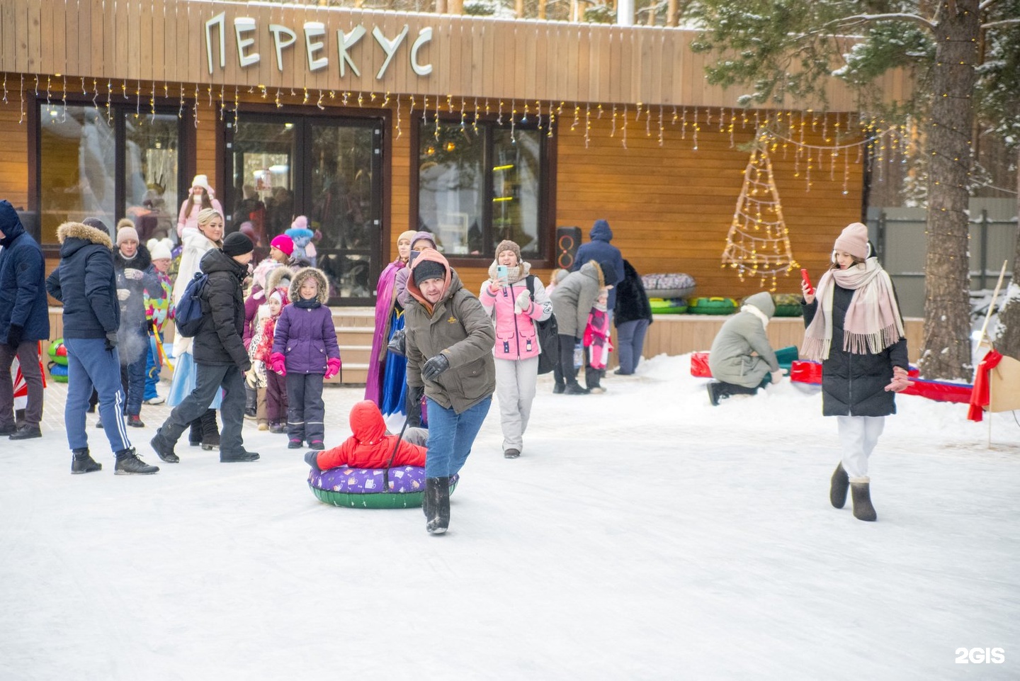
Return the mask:
{"type": "Polygon", "coordinates": [[[843,323],[843,349],[853,354],[877,354],[904,336],[903,319],[892,282],[868,258],[846,270],[829,270],[818,282],[818,307],[804,332],[801,354],[807,359],[827,359],[832,345],[832,298],[835,285],[854,291],[843,323]]]}

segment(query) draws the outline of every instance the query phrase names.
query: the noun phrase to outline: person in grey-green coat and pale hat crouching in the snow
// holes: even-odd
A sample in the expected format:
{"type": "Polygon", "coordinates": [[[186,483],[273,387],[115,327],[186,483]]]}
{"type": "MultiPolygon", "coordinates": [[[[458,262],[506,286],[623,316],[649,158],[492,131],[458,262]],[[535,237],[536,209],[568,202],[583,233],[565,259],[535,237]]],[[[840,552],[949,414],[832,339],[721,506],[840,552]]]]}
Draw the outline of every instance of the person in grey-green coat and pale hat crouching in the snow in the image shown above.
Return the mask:
{"type": "Polygon", "coordinates": [[[762,291],[748,296],[741,311],[719,329],[708,354],[712,377],[718,380],[708,384],[713,406],[732,395],[753,395],[758,388],[782,379],[775,351],[765,335],[774,313],[772,296],[762,291]]]}

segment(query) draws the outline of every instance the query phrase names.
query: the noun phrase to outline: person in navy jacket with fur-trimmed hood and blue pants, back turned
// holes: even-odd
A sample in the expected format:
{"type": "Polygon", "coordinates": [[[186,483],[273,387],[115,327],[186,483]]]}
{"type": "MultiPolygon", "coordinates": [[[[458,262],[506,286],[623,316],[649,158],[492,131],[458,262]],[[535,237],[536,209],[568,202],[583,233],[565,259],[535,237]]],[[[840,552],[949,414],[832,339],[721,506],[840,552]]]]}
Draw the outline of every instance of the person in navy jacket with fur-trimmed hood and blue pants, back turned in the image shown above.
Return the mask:
{"type": "Polygon", "coordinates": [[[135,453],[124,428],[124,394],[120,389],[117,329],[120,306],[110,233],[102,221],[64,223],[57,228],[60,264],[46,289],[63,303],[63,338],[67,348],[67,402],[64,427],[74,454],[71,473],[102,469],[89,454],[85,412],[95,386],[99,414],[116,456],[116,475],[149,475],[159,471],[135,453]]]}

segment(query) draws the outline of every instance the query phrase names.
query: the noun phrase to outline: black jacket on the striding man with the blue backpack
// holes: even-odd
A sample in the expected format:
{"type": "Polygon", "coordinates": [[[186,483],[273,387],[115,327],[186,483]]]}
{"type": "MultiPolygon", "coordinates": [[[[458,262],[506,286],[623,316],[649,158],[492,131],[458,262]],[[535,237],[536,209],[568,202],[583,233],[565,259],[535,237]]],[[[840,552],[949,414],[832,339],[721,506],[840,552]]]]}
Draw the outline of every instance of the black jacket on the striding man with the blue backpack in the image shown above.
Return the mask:
{"type": "Polygon", "coordinates": [[[237,364],[251,369],[251,359],[242,336],[245,328],[245,300],[241,284],[248,265],[241,264],[218,248],[202,256],[201,271],[209,275],[202,289],[202,313],[206,318],[195,334],[192,353],[199,364],[237,364]]]}

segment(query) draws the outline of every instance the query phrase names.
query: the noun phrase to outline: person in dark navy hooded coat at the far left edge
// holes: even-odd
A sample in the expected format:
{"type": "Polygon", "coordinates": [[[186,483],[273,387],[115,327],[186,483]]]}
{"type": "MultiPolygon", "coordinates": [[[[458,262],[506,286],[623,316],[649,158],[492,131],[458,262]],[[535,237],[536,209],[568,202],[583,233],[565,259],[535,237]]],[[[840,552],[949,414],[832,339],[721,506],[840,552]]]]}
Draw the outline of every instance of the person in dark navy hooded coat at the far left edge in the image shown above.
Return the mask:
{"type": "Polygon", "coordinates": [[[8,201],[0,201],[0,436],[11,440],[42,437],[43,371],[39,341],[50,337],[46,301],[46,261],[8,201]],[[14,424],[14,384],[10,368],[17,357],[29,388],[24,423],[14,424]]]}

